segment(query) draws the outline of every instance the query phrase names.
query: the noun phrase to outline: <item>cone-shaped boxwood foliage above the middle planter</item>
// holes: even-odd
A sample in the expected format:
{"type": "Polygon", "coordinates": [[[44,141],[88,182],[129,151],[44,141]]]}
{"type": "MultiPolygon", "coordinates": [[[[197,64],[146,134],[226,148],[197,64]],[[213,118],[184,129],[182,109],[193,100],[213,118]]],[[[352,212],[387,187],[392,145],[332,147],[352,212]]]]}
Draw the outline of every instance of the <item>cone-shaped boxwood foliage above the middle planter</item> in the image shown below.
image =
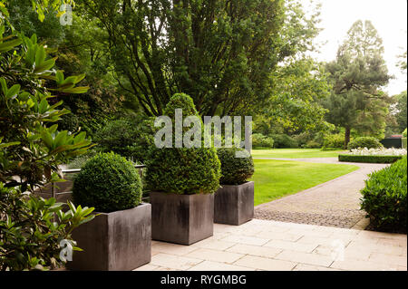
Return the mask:
{"type": "MultiPolygon", "coordinates": [[[[194,102],[184,93],[174,94],[164,114],[172,120],[175,130],[175,110],[182,109],[183,118],[198,116],[194,102]]],[[[200,120],[200,119],[199,119],[200,120]]],[[[183,128],[183,131],[189,128],[183,128]]],[[[203,130],[201,123],[201,132],[203,130]]],[[[173,138],[174,139],[174,138],[173,138]]],[[[156,148],[153,146],[146,161],[146,182],[151,190],[175,194],[208,194],[219,188],[220,163],[214,148],[156,148]]]]}

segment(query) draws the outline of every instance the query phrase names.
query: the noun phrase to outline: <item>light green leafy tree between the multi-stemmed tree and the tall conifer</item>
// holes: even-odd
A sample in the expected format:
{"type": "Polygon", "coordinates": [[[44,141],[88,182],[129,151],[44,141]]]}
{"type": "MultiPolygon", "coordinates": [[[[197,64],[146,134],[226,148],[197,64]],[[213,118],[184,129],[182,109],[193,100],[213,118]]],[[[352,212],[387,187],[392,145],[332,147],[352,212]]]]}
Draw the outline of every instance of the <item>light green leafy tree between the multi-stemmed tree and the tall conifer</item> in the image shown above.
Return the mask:
{"type": "MultiPolygon", "coordinates": [[[[260,110],[270,125],[285,130],[326,130],[320,102],[330,94],[324,67],[310,58],[291,59],[271,74],[270,97],[260,110]]],[[[261,118],[261,119],[262,119],[261,118]]]]}

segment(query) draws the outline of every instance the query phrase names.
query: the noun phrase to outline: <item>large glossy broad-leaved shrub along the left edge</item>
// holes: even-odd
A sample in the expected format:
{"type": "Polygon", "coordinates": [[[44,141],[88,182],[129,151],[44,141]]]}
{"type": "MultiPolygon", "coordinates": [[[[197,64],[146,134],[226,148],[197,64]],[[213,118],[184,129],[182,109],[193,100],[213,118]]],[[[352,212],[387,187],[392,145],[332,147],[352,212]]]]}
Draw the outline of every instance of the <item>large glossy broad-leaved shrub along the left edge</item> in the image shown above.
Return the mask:
{"type": "Polygon", "coordinates": [[[16,34],[5,5],[0,11],[0,271],[56,267],[65,262],[60,241],[76,249],[71,232],[92,219],[92,208],[68,204],[63,212],[63,204],[33,191],[59,180],[58,165],[90,147],[84,133],[57,130],[55,122],[69,111],[59,110],[62,101],[51,94],[87,87],[76,86],[84,75],[55,72],[44,44],[16,34]]]}

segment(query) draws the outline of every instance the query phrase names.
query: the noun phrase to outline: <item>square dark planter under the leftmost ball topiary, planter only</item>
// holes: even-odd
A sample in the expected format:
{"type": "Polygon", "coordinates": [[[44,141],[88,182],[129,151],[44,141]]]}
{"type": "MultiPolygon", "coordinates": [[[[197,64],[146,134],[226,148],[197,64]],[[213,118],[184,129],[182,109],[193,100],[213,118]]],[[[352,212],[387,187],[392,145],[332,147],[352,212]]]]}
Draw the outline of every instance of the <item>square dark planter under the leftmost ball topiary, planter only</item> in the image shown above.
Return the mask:
{"type": "Polygon", "coordinates": [[[151,204],[100,213],[73,230],[83,252],[73,251],[70,270],[132,270],[151,262],[151,204]]]}

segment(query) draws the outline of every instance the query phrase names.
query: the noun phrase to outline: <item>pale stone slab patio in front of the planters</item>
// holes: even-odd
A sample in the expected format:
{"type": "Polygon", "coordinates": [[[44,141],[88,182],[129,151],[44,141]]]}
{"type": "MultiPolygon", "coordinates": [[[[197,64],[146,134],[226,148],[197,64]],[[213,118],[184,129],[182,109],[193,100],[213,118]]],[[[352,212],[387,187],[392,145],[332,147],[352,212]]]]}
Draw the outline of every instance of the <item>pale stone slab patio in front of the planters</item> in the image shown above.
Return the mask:
{"type": "Polygon", "coordinates": [[[136,271],[406,271],[407,236],[253,219],[190,246],[152,241],[136,271]]]}

